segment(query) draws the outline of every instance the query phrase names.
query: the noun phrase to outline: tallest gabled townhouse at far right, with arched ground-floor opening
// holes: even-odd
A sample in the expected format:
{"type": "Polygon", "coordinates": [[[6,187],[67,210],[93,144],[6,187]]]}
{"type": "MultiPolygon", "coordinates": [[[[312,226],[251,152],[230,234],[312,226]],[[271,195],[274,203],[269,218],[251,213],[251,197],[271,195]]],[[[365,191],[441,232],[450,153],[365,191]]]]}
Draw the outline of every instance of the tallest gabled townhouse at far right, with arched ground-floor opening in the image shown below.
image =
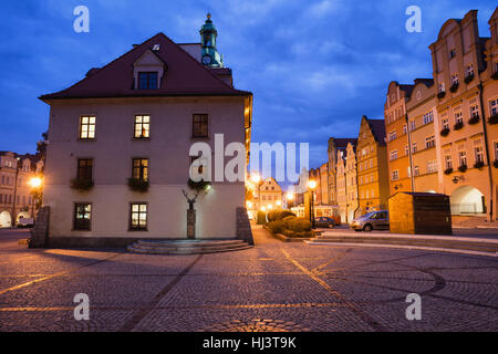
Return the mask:
{"type": "Polygon", "coordinates": [[[443,192],[450,196],[453,215],[480,215],[488,220],[496,219],[497,197],[490,152],[497,131],[489,124],[498,95],[491,77],[496,72],[496,12],[489,21],[491,39],[479,37],[477,11],[471,10],[460,20],[446,21],[429,45],[437,88],[443,192]]]}

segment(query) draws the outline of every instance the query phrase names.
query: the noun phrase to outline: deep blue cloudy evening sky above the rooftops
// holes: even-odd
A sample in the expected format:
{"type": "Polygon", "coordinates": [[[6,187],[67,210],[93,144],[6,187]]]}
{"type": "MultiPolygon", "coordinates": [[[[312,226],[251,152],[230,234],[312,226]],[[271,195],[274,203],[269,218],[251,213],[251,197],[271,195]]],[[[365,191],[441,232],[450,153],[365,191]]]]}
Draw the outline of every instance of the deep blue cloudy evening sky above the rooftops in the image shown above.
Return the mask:
{"type": "Polygon", "coordinates": [[[27,153],[45,132],[37,97],[64,88],[157,32],[199,41],[206,13],[238,88],[255,94],[255,142],[309,142],[311,167],[330,136],[354,137],[360,117],[382,118],[392,80],[430,77],[428,45],[443,23],[477,9],[479,33],[496,2],[474,0],[22,0],[1,1],[0,150],[27,153]],[[73,9],[90,9],[90,33],[73,31],[73,9]],[[422,32],[408,33],[408,6],[422,32]]]}

